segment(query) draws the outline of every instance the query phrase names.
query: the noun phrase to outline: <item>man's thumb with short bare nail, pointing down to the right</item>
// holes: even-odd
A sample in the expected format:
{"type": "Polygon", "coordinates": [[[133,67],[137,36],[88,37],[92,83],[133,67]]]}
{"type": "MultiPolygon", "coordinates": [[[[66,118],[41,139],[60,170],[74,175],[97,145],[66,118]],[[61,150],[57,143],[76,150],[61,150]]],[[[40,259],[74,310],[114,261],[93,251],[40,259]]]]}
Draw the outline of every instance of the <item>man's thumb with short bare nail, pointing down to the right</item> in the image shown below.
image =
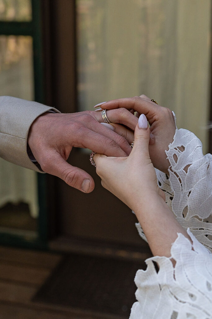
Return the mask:
{"type": "Polygon", "coordinates": [[[58,176],[66,184],[79,189],[81,192],[90,193],[94,189],[92,177],[78,167],[68,164],[59,153],[51,156],[51,161],[41,165],[44,172],[58,176]]]}

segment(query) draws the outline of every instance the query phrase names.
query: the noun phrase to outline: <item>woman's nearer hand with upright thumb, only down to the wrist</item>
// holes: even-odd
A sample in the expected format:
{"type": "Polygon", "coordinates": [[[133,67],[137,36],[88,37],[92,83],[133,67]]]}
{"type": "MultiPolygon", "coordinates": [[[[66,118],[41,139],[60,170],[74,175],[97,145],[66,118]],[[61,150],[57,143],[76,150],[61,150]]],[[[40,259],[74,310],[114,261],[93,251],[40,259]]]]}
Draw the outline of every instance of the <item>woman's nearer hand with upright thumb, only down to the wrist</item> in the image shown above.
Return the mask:
{"type": "Polygon", "coordinates": [[[134,133],[133,150],[128,157],[107,157],[94,155],[96,172],[102,180],[102,186],[120,198],[134,211],[142,197],[143,204],[159,195],[165,199],[158,187],[157,178],[151,162],[148,145],[150,130],[145,115],[140,115],[134,133]]]}

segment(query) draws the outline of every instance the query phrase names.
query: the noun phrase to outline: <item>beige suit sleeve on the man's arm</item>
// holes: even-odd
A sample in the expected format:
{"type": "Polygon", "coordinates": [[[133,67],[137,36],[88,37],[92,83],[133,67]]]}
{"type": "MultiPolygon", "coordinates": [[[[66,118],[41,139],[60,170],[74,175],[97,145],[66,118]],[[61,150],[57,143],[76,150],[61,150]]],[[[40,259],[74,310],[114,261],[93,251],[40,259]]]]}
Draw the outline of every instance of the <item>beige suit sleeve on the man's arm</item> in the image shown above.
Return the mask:
{"type": "Polygon", "coordinates": [[[27,154],[27,137],[34,120],[50,110],[60,113],[37,102],[0,96],[0,157],[41,172],[27,154]]]}

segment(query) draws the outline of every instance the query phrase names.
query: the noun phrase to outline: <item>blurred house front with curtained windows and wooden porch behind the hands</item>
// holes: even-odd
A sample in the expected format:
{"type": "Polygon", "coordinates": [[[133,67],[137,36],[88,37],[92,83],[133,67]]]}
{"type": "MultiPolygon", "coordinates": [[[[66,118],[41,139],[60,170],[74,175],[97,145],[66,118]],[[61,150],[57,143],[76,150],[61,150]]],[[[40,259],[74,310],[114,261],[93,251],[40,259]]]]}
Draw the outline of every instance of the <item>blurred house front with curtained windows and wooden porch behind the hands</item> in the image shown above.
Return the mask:
{"type": "MultiPolygon", "coordinates": [[[[72,113],[140,94],[172,109],[178,128],[193,131],[204,153],[211,152],[211,0],[0,0],[0,95],[72,113]]],[[[0,159],[0,318],[129,315],[135,286],[126,301],[129,285],[117,284],[117,302],[112,307],[108,293],[102,308],[101,290],[100,297],[79,292],[84,301],[93,296],[84,304],[69,291],[71,261],[110,260],[117,270],[115,260],[134,267],[151,256],[135,216],[102,189],[89,151],[74,149],[69,162],[93,176],[91,194],[0,159]],[[66,274],[58,280],[62,288],[68,285],[66,301],[65,296],[58,301],[56,292],[50,296],[53,287],[62,289],[54,277],[48,279],[53,286],[45,284],[55,267],[56,278],[66,274]]],[[[97,279],[89,280],[88,286],[97,279]]]]}

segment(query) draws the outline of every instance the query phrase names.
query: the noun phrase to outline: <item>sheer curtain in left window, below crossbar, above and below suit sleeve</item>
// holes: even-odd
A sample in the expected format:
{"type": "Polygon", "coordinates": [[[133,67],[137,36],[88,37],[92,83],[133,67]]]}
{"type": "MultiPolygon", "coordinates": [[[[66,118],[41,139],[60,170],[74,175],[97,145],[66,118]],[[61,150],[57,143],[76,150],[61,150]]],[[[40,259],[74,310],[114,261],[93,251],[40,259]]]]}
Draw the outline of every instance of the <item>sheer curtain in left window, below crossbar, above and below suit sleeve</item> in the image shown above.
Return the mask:
{"type": "MultiPolygon", "coordinates": [[[[33,100],[32,57],[31,37],[0,36],[0,95],[33,100]]],[[[27,203],[38,217],[37,173],[0,159],[0,207],[8,202],[27,203]]]]}

